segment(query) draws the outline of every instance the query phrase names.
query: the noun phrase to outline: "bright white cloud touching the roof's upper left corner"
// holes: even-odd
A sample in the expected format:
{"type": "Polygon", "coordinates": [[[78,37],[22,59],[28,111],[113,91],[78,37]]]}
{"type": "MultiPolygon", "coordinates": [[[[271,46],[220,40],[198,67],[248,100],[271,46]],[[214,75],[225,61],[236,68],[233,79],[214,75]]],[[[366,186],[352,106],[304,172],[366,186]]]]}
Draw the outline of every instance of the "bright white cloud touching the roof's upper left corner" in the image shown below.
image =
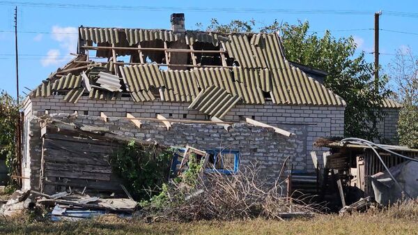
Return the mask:
{"type": "Polygon", "coordinates": [[[77,51],[78,31],[75,27],[52,27],[52,39],[58,41],[67,54],[77,51]]]}

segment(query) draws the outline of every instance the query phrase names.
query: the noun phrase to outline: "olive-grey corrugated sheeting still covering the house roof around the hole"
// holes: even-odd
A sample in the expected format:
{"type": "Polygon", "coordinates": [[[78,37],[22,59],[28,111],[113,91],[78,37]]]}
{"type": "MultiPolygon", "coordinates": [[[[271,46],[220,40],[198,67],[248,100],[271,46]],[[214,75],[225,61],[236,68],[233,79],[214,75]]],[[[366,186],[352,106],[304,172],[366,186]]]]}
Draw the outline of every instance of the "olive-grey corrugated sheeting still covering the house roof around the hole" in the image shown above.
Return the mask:
{"type": "MultiPolygon", "coordinates": [[[[284,58],[279,37],[276,33],[215,33],[186,31],[173,33],[158,29],[116,29],[80,27],[79,38],[92,43],[114,43],[137,47],[138,43],[162,40],[168,43],[185,40],[188,45],[196,42],[211,43],[223,47],[226,57],[235,60],[231,68],[191,68],[190,70],[161,70],[155,63],[135,66],[120,66],[121,77],[125,83],[123,91],[131,94],[136,102],[154,100],[160,93],[163,100],[191,103],[199,92],[210,87],[219,87],[230,96],[238,97],[242,103],[263,104],[270,97],[278,105],[327,105],[345,106],[344,100],[308,77],[302,70],[292,66],[284,58]],[[221,43],[222,42],[222,43],[221,43]],[[160,90],[160,91],[158,91],[160,90]]],[[[121,52],[122,53],[122,52],[121,52]]],[[[125,53],[125,52],[123,52],[125,53]]],[[[122,53],[122,54],[123,54],[122,53]]],[[[147,52],[148,56],[152,55],[147,52]]],[[[102,67],[114,74],[110,61],[102,67]]],[[[93,69],[86,70],[91,83],[95,83],[93,69]]],[[[82,87],[81,76],[68,74],[42,84],[32,93],[34,96],[49,96],[52,91],[82,87]]],[[[79,93],[77,93],[79,94],[79,93]]],[[[67,94],[67,96],[70,96],[67,94]]],[[[90,98],[114,99],[114,93],[92,90],[90,98]]],[[[72,100],[68,98],[68,100],[72,100]]],[[[238,102],[238,101],[237,101],[238,102]]],[[[396,107],[396,103],[385,102],[387,107],[396,107]]]]}

